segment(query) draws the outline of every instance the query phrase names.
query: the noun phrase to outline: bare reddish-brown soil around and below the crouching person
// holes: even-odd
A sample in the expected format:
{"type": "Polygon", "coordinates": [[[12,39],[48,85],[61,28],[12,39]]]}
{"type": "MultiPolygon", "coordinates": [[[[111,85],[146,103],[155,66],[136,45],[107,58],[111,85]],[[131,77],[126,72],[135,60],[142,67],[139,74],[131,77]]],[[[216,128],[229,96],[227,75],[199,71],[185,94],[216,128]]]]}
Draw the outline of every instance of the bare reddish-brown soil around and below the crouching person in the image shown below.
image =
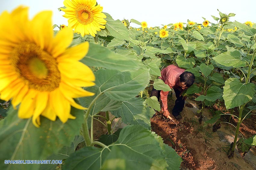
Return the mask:
{"type": "MultiPolygon", "coordinates": [[[[168,98],[169,111],[173,108],[175,103],[175,95],[168,98]]],[[[195,100],[187,99],[183,111],[180,113],[182,120],[173,123],[169,119],[165,119],[161,113],[156,114],[151,118],[151,130],[156,132],[163,138],[165,144],[171,146],[181,156],[183,162],[180,169],[193,170],[253,170],[254,168],[245,162],[245,160],[238,154],[234,154],[232,159],[229,159],[226,152],[229,150],[228,140],[220,139],[217,132],[212,132],[212,125],[204,123],[211,119],[211,108],[204,108],[203,120],[199,124],[196,117],[196,111],[200,103],[195,100]],[[192,107],[191,107],[192,106],[192,107]]],[[[222,106],[224,106],[222,104],[222,106]]],[[[220,110],[221,104],[212,107],[220,110]]],[[[170,112],[171,113],[171,112],[170,112]]],[[[233,114],[236,114],[236,110],[233,114]]],[[[236,125],[237,120],[232,117],[231,123],[236,125]]],[[[244,138],[249,138],[256,134],[256,116],[251,115],[250,119],[244,120],[240,126],[240,132],[244,138]]],[[[221,123],[218,132],[234,137],[235,128],[229,124],[221,123]]],[[[239,136],[241,138],[241,136],[239,136]]],[[[232,141],[232,140],[231,140],[232,141]]],[[[251,148],[251,152],[256,155],[255,147],[251,148]]]]}

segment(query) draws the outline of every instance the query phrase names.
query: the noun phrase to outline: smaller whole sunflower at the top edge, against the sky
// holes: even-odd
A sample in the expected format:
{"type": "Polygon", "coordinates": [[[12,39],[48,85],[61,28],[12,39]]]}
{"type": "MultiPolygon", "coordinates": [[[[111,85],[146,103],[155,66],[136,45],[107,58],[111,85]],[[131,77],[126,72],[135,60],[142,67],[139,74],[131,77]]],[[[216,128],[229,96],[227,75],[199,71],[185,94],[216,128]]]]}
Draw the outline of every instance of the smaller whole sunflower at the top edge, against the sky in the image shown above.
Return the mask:
{"type": "Polygon", "coordinates": [[[65,12],[63,17],[68,18],[68,27],[75,29],[74,32],[95,37],[97,31],[105,29],[106,15],[100,5],[95,6],[96,0],[64,0],[63,3],[66,7],[61,8],[65,12]]]}

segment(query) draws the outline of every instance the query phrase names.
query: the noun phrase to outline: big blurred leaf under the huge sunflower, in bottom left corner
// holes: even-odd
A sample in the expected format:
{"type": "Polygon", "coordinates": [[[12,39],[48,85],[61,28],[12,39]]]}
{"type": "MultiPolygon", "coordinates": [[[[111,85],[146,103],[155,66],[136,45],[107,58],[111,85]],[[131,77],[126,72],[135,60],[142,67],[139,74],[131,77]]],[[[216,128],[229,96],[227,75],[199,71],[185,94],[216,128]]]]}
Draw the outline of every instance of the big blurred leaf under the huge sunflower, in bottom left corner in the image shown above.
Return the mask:
{"type": "MultiPolygon", "coordinates": [[[[83,123],[83,110],[71,108],[75,120],[62,123],[41,117],[41,126],[35,127],[32,119],[20,119],[17,110],[10,110],[8,117],[0,122],[0,161],[46,160],[62,147],[69,146],[79,134],[83,123]]],[[[39,169],[40,164],[0,164],[1,169],[39,169]]]]}

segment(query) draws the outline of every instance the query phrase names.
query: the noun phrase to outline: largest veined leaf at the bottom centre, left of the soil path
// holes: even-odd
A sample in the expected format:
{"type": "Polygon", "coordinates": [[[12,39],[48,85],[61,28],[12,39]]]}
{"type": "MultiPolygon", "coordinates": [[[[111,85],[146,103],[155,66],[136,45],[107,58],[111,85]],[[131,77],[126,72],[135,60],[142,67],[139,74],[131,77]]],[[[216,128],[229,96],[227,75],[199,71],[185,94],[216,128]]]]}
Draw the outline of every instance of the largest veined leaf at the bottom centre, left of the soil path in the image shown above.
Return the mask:
{"type": "Polygon", "coordinates": [[[84,147],[65,161],[63,169],[165,169],[168,165],[156,138],[142,126],[126,126],[115,143],[84,147]]]}

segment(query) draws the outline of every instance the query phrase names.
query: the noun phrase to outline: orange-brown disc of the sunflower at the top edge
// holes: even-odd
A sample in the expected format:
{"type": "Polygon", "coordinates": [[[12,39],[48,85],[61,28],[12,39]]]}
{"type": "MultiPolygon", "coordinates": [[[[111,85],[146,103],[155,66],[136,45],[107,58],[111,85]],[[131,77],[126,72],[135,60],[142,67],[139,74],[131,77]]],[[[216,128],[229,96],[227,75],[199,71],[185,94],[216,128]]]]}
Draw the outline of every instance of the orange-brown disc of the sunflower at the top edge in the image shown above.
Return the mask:
{"type": "Polygon", "coordinates": [[[86,5],[76,7],[76,20],[83,25],[88,25],[94,20],[92,11],[86,5]]]}

